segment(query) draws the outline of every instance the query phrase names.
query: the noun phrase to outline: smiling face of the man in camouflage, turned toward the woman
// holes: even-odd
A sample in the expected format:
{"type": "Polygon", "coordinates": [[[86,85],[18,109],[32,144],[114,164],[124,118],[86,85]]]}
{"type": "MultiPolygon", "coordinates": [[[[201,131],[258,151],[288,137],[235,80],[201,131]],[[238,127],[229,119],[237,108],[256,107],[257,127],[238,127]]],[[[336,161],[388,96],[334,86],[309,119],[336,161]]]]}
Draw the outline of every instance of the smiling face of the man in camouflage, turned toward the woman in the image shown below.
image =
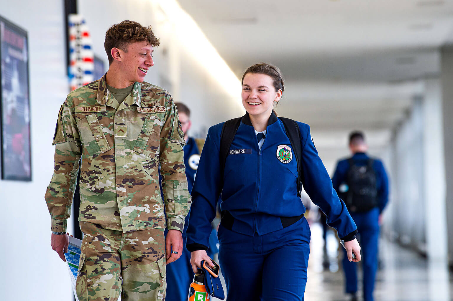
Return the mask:
{"type": "Polygon", "coordinates": [[[153,46],[142,41],[130,43],[126,49],[127,52],[112,48],[112,57],[120,63],[120,76],[129,85],[132,85],[135,81],[144,81],[149,67],[154,66],[153,46]]]}

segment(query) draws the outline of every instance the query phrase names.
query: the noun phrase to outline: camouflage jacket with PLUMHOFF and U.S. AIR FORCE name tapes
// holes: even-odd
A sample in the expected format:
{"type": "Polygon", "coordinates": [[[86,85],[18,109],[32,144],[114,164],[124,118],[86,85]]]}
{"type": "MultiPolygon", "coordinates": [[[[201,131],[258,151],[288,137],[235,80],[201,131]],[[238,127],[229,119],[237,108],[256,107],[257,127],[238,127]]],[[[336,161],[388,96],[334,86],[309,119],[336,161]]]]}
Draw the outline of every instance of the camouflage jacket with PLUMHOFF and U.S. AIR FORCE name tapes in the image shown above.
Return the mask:
{"type": "Polygon", "coordinates": [[[192,199],[183,131],[167,91],[135,82],[119,104],[103,76],[69,93],[58,113],[53,144],[55,167],[45,195],[53,231],[66,231],[80,158],[80,221],[123,232],[167,224],[183,230],[192,199]]]}

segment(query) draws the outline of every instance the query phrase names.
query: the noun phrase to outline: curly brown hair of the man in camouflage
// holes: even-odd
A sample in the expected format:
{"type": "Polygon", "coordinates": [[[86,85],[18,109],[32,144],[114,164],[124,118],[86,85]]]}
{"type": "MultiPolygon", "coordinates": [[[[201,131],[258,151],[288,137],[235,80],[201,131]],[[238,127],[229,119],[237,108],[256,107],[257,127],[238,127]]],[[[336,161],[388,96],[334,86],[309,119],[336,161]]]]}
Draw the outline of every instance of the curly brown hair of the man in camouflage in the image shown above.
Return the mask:
{"type": "Polygon", "coordinates": [[[160,42],[156,38],[151,25],[143,27],[140,23],[124,20],[118,24],[113,24],[111,28],[106,31],[106,40],[104,41],[104,48],[106,49],[109,64],[113,62],[111,55],[112,48],[121,49],[127,52],[129,43],[146,41],[153,47],[158,47],[160,42]]]}

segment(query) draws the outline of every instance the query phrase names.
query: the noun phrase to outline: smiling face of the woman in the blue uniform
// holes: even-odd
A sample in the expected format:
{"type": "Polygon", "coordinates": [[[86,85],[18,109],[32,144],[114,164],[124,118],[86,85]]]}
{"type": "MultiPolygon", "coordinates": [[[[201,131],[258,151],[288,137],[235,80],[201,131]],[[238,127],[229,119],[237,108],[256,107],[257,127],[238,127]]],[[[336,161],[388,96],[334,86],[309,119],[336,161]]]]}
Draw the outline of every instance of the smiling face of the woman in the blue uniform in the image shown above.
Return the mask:
{"type": "Polygon", "coordinates": [[[247,73],[242,82],[242,105],[249,115],[269,117],[274,102],[280,100],[282,90],[275,91],[272,77],[262,73],[247,73]]]}

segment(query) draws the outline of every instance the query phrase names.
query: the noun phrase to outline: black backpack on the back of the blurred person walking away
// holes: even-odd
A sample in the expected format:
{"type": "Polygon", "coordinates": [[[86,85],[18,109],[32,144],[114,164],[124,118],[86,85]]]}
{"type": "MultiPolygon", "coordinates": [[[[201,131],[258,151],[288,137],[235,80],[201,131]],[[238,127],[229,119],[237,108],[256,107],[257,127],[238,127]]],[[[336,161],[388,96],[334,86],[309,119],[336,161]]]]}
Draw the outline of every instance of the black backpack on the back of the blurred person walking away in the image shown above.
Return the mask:
{"type": "Polygon", "coordinates": [[[368,159],[366,165],[358,165],[352,158],[348,159],[348,190],[342,194],[342,199],[349,212],[366,212],[378,205],[377,177],[373,162],[373,159],[368,159]]]}

